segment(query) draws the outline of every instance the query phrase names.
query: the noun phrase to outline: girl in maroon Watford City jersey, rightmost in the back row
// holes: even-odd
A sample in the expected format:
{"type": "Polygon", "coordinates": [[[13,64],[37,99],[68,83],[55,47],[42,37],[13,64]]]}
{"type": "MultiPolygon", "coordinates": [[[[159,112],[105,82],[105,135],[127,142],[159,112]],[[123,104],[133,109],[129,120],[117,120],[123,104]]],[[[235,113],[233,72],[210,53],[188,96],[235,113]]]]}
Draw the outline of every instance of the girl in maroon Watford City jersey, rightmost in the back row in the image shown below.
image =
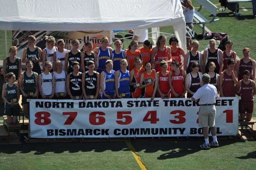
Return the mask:
{"type": "Polygon", "coordinates": [[[255,80],[255,68],[256,62],[252,58],[250,58],[250,48],[243,49],[243,58],[237,61],[236,63],[236,71],[238,72],[238,81],[243,79],[244,70],[248,70],[251,73],[250,79],[255,80]]]}

